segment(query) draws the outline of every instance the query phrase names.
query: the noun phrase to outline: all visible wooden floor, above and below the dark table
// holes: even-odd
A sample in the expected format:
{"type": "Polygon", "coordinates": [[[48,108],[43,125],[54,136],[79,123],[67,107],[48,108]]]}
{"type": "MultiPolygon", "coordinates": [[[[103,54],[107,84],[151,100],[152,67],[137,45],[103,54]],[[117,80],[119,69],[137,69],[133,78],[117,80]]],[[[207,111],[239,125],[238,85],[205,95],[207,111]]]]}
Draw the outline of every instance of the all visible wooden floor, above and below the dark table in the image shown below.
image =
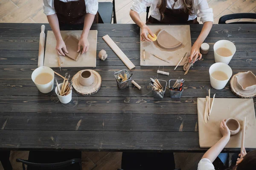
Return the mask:
{"type": "MultiPolygon", "coordinates": [[[[112,0],[99,0],[99,2],[112,0]]],[[[255,0],[207,0],[214,12],[214,23],[226,14],[256,13],[255,0]]],[[[116,0],[117,23],[133,23],[129,16],[132,0],[116,0]]],[[[146,14],[140,15],[145,21],[146,14]]],[[[256,21],[256,20],[254,20],[256,21]]],[[[42,0],[0,0],[0,23],[48,23],[42,0]]],[[[12,151],[10,161],[14,170],[22,170],[16,158],[28,158],[28,151],[12,151]]],[[[175,153],[176,166],[182,170],[196,170],[202,153],[175,153]],[[183,162],[186,162],[184,164],[183,162]]],[[[116,170],[121,167],[122,153],[83,152],[83,170],[116,170]]],[[[0,170],[3,167],[0,164],[0,170]]]]}

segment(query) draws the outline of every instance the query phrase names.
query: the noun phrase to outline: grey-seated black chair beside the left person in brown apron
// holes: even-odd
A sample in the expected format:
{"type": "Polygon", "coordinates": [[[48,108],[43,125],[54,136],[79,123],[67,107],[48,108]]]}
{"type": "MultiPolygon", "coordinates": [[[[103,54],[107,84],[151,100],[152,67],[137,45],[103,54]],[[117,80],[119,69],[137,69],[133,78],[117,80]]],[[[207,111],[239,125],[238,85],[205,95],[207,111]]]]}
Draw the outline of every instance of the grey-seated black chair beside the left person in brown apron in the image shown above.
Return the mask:
{"type": "Polygon", "coordinates": [[[99,3],[99,23],[116,23],[116,8],[115,8],[115,0],[113,3],[111,2],[101,2],[99,3]]]}

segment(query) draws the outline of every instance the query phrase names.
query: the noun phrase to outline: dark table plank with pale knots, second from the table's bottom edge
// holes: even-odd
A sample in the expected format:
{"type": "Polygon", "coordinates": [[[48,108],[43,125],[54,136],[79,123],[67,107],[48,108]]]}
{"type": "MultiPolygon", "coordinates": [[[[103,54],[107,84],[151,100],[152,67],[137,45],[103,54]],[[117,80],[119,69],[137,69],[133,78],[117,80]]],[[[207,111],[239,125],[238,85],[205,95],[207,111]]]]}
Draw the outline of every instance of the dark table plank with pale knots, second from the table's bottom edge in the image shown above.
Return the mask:
{"type": "Polygon", "coordinates": [[[192,114],[2,113],[2,130],[197,132],[192,114]],[[3,126],[3,124],[5,124],[3,126]]]}

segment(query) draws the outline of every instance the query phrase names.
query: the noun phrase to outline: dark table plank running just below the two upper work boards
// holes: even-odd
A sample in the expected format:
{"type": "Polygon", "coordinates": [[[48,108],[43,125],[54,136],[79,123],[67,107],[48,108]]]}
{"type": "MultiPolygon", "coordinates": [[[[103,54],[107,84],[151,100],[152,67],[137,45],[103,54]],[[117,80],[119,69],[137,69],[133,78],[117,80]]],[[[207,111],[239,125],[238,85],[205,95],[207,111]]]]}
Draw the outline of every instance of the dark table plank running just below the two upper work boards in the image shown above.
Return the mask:
{"type": "MultiPolygon", "coordinates": [[[[164,67],[164,71],[169,72],[171,76],[166,75],[158,75],[160,80],[169,81],[170,78],[186,78],[186,81],[209,81],[209,67],[210,66],[197,66],[196,62],[194,68],[189,70],[189,73],[184,76],[183,67],[178,67],[174,70],[174,66],[172,67],[164,67]],[[200,76],[198,76],[200,75],[200,76]]],[[[34,69],[36,69],[36,65],[0,65],[1,76],[0,80],[31,80],[31,74],[34,69]]],[[[94,69],[99,72],[103,81],[113,81],[115,80],[113,73],[119,71],[121,69],[125,69],[126,66],[100,66],[94,69]]],[[[157,76],[157,70],[159,66],[137,66],[135,70],[128,70],[130,73],[133,73],[134,81],[149,81],[149,78],[152,76],[157,76]]],[[[161,69],[161,68],[160,68],[161,69]]],[[[248,70],[252,71],[256,74],[255,66],[231,66],[233,70],[233,74],[238,72],[247,72],[248,70]]],[[[61,73],[64,75],[66,72],[70,74],[71,77],[75,75],[77,72],[81,70],[81,68],[63,68],[63,71],[60,72],[58,68],[53,69],[54,71],[61,73]]],[[[62,80],[60,77],[56,77],[58,80],[62,80]]]]}

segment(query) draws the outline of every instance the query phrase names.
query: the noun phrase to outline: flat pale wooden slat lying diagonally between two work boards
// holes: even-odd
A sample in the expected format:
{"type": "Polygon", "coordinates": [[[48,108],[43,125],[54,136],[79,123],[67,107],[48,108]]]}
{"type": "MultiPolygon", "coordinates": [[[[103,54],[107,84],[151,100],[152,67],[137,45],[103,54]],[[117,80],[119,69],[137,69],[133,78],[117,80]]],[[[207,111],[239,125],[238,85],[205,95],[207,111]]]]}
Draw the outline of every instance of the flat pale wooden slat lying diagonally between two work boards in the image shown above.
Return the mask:
{"type": "Polygon", "coordinates": [[[108,46],[110,46],[110,48],[116,53],[116,55],[122,60],[122,62],[125,63],[128,69],[133,69],[135,67],[134,64],[125,55],[125,53],[123,53],[122,50],[116,45],[116,43],[111,39],[111,37],[105,35],[102,38],[103,40],[105,40],[108,46]]]}

